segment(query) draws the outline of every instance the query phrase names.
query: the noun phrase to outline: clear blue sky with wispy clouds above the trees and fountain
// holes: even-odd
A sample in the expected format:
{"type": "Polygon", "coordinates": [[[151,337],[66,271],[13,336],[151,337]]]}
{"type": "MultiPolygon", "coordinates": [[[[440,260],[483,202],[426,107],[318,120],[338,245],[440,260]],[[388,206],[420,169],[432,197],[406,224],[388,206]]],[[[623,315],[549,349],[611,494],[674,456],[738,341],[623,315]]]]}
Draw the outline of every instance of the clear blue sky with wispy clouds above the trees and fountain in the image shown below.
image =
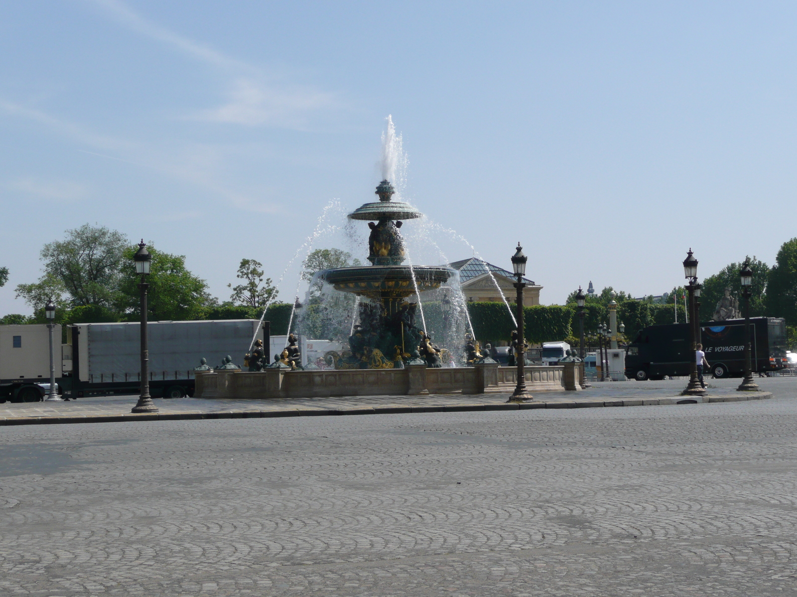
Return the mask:
{"type": "Polygon", "coordinates": [[[405,196],[492,263],[520,240],[544,303],[667,291],[689,247],[701,276],[772,263],[797,236],[795,25],[791,2],[3,3],[0,314],[86,222],[222,299],[241,257],[280,278],[329,201],[374,197],[389,114],[405,196]]]}

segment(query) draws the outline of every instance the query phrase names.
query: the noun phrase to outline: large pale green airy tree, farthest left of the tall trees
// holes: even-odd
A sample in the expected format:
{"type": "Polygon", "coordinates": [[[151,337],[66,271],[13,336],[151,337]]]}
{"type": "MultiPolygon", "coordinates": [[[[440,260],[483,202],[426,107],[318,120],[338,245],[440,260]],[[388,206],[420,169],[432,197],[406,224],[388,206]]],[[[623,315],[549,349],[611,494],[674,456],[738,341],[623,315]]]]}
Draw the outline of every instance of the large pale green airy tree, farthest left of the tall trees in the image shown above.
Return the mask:
{"type": "Polygon", "coordinates": [[[66,234],[65,240],[55,240],[41,249],[45,276],[61,280],[73,305],[110,306],[120,283],[128,239],[116,230],[90,224],[66,234]]]}

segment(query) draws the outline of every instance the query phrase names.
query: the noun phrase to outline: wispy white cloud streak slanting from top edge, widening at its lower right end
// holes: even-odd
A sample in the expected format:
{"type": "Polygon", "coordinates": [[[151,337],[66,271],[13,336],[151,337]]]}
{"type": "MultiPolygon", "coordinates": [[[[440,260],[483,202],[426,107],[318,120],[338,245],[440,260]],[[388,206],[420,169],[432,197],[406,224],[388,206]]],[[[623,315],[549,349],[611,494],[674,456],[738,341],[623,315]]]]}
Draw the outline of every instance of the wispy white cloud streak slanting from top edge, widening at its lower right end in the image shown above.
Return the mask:
{"type": "Polygon", "coordinates": [[[136,33],[178,50],[202,63],[217,68],[227,78],[222,92],[226,102],[218,107],[192,111],[186,119],[250,127],[277,126],[302,128],[308,115],[336,107],[336,94],[311,86],[281,84],[264,68],[226,56],[218,50],[152,23],[120,0],[90,0],[112,18],[136,33]]]}

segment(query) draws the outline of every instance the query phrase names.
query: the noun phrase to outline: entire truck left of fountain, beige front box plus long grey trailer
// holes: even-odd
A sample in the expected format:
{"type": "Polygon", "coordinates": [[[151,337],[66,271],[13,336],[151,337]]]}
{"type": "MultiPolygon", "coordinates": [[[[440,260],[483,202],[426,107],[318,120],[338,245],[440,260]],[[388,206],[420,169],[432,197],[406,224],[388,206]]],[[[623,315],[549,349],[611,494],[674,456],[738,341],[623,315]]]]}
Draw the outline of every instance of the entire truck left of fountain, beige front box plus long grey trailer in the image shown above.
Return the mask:
{"type": "MultiPolygon", "coordinates": [[[[60,339],[61,326],[55,327],[55,338],[60,339]]],[[[263,327],[257,319],[148,323],[151,396],[193,396],[194,367],[202,358],[216,366],[230,355],[242,366],[256,333],[263,339],[263,327]]],[[[66,331],[67,343],[59,342],[56,349],[57,391],[62,397],[139,392],[139,323],[79,323],[66,331]]],[[[49,389],[47,334],[46,325],[0,326],[0,402],[41,400],[49,389]]]]}

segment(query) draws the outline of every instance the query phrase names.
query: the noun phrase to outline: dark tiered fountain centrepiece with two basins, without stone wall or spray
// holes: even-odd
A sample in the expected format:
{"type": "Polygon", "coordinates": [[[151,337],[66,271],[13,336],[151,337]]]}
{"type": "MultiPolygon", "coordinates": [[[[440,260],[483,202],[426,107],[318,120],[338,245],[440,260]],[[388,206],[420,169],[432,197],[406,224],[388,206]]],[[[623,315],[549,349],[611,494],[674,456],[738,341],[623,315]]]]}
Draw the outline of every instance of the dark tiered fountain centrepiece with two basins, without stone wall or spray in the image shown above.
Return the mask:
{"type": "Polygon", "coordinates": [[[351,220],[368,221],[371,265],[320,272],[320,278],[336,291],[359,297],[360,323],[352,327],[351,350],[335,356],[336,369],[402,369],[405,363],[424,362],[418,345],[425,326],[416,326],[418,303],[406,299],[439,288],[456,273],[444,266],[405,265],[406,249],[398,229],[403,220],[423,214],[412,205],[392,201],[395,188],[390,181],[380,182],[375,193],[379,201],[348,214],[351,220]]]}

